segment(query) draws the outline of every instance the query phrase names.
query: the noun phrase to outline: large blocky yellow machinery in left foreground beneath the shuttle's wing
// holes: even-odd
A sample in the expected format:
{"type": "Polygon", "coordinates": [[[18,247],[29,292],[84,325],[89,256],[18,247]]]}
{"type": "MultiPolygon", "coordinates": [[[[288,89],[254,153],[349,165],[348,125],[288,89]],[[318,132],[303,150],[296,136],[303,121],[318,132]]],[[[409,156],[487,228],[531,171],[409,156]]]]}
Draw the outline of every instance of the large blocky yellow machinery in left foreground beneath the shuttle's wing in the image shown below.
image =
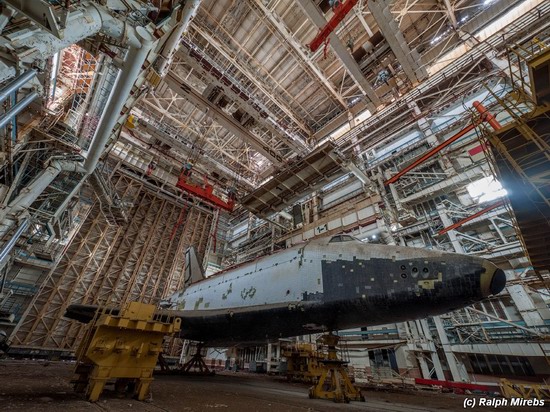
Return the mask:
{"type": "Polygon", "coordinates": [[[155,316],[155,306],[130,302],[120,314],[103,312],[90,322],[76,354],[76,392],[86,392],[89,401],[99,399],[105,384],[115,380],[115,388],[135,385],[135,395],[143,400],[153,381],[153,369],[165,335],[180,329],[179,318],[155,316]]]}

